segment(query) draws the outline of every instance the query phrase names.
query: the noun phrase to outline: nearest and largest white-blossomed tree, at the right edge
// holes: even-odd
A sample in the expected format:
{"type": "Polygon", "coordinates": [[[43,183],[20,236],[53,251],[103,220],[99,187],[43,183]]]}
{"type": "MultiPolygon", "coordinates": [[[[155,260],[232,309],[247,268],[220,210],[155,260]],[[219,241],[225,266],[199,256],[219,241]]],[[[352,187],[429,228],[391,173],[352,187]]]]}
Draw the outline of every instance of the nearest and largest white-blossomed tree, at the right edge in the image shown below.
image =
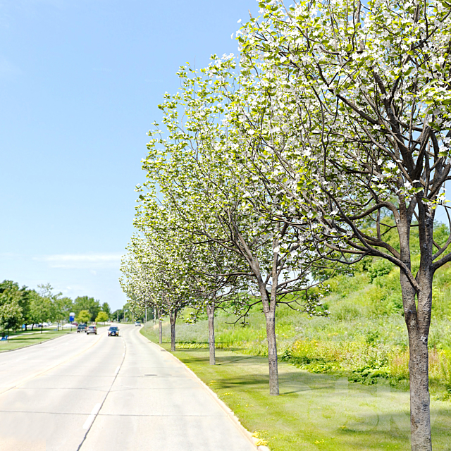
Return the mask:
{"type": "Polygon", "coordinates": [[[451,260],[451,236],[444,245],[434,240],[437,209],[450,218],[444,187],[451,168],[451,4],[260,6],[262,19],[249,20],[238,37],[243,76],[260,92],[254,116],[245,116],[259,137],[256,165],[265,153],[278,161],[271,176],[318,249],[321,243],[345,264],[370,255],[400,268],[412,450],[431,450],[432,281],[451,260]],[[265,118],[260,128],[257,116],[265,118]],[[419,230],[418,264],[411,259],[412,227],[419,230]],[[392,228],[397,246],[385,240],[392,228]]]}

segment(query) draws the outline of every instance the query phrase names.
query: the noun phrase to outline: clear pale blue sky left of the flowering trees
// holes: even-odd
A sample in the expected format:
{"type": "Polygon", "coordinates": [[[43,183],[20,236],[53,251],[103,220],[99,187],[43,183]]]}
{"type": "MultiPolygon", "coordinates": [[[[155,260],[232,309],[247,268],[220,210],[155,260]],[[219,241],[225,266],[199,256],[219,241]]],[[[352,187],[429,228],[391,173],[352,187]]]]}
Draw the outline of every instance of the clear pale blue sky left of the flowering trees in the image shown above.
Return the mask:
{"type": "Polygon", "coordinates": [[[0,280],[121,307],[147,130],[254,0],[0,0],[0,280]]]}

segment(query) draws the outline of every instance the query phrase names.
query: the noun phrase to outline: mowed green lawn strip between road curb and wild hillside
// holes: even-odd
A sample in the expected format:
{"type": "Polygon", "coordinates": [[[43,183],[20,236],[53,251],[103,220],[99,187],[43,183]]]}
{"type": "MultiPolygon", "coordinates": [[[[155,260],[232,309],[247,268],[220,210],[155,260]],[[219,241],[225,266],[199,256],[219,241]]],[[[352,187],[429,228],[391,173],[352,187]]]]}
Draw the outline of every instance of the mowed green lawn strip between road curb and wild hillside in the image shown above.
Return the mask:
{"type": "MultiPolygon", "coordinates": [[[[158,342],[153,330],[143,335],[158,342]]],[[[162,345],[170,350],[170,344],[162,345]]],[[[268,362],[230,350],[174,353],[273,451],[410,450],[409,393],[279,364],[280,396],[268,395],[268,362]]],[[[433,449],[451,450],[451,403],[432,401],[433,449]]]]}

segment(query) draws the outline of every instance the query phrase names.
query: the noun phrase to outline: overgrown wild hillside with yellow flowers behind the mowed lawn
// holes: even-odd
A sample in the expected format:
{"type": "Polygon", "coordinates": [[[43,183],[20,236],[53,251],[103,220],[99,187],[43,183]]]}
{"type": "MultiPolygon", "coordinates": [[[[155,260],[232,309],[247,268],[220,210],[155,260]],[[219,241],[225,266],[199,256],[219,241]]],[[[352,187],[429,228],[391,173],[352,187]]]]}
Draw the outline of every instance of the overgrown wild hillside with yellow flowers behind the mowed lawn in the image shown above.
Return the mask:
{"type": "MultiPolygon", "coordinates": [[[[416,264],[414,259],[414,265],[416,264]]],[[[407,329],[402,316],[399,270],[383,260],[366,260],[354,274],[328,280],[330,292],[324,307],[328,318],[307,318],[280,306],[276,332],[278,355],[311,373],[347,377],[350,382],[373,385],[389,382],[392,387],[408,388],[407,329]]],[[[433,286],[431,352],[431,393],[436,399],[451,397],[451,267],[441,268],[433,286]]],[[[216,317],[216,344],[242,354],[265,356],[266,330],[261,309],[249,316],[249,326],[234,325],[235,318],[225,311],[216,317]]],[[[152,325],[147,326],[152,336],[152,325]]],[[[163,333],[168,336],[168,324],[163,333]]],[[[208,324],[180,320],[177,341],[180,349],[208,346],[208,324]]]]}

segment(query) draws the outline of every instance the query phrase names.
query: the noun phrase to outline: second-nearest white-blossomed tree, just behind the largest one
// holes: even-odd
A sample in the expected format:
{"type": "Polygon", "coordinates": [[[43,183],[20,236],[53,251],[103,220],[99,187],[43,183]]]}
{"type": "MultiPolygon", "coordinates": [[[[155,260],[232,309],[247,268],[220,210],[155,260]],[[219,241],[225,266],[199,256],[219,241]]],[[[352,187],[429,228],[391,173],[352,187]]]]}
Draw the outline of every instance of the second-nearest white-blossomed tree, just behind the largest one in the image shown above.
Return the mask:
{"type": "MultiPolygon", "coordinates": [[[[249,183],[240,175],[235,149],[247,143],[236,135],[229,137],[221,122],[229,101],[224,89],[235,82],[233,64],[226,58],[200,73],[181,68],[182,92],[166,94],[160,106],[169,136],[163,138],[159,129],[149,132],[152,140],[143,167],[149,173],[147,187],[152,192],[158,185],[162,202],[178,214],[185,230],[199,241],[223,247],[245,265],[233,275],[242,276],[242,283],[259,297],[248,307],[262,304],[270,393],[278,395],[276,307],[280,302],[295,303],[296,309],[324,314],[314,297],[302,295],[302,304],[297,304],[299,294],[311,286],[309,275],[317,255],[303,245],[299,229],[276,217],[280,205],[273,201],[278,196],[267,202],[268,190],[258,176],[249,183]],[[268,208],[262,209],[263,204],[268,208]]],[[[141,199],[145,222],[149,196],[144,193],[141,199]]]]}

